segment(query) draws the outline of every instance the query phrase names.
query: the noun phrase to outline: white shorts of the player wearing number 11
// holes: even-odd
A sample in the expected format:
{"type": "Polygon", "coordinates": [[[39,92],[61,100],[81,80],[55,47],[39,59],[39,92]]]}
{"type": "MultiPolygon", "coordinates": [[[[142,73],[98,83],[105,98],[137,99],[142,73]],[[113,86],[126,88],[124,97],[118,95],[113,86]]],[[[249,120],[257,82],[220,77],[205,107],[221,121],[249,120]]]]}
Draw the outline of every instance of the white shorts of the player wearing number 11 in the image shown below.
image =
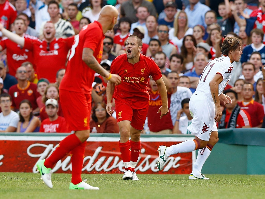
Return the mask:
{"type": "Polygon", "coordinates": [[[203,93],[195,92],[189,101],[189,111],[193,119],[188,130],[201,140],[208,141],[211,132],[217,131],[213,100],[203,93]]]}

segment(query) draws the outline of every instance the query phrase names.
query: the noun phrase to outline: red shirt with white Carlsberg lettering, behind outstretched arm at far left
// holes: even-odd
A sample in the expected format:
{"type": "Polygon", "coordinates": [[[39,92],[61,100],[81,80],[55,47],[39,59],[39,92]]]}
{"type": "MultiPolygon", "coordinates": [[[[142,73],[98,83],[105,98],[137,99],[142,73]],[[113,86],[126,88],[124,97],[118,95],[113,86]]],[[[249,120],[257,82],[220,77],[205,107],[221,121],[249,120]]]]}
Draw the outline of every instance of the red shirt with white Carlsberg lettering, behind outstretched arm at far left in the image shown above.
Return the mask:
{"type": "MultiPolygon", "coordinates": [[[[24,38],[29,38],[32,40],[37,40],[37,37],[30,36],[28,34],[23,34],[24,38]]],[[[3,49],[7,49],[7,64],[9,68],[9,74],[12,76],[16,75],[16,70],[21,66],[23,62],[31,62],[33,63],[33,52],[27,48],[21,48],[20,45],[11,41],[7,37],[4,37],[0,41],[0,45],[3,49]]],[[[36,67],[34,67],[36,70],[36,67]]]]}

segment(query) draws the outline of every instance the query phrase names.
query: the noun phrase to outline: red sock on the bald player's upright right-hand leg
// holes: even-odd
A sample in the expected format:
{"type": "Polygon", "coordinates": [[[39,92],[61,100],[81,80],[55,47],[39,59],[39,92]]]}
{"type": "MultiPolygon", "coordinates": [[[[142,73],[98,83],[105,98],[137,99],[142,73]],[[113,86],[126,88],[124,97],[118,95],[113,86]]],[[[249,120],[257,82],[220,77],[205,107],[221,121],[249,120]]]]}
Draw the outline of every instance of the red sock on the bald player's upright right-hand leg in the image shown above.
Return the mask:
{"type": "Polygon", "coordinates": [[[82,182],[81,173],[85,155],[86,141],[78,145],[71,152],[71,163],[72,163],[72,180],[73,184],[82,182]]]}

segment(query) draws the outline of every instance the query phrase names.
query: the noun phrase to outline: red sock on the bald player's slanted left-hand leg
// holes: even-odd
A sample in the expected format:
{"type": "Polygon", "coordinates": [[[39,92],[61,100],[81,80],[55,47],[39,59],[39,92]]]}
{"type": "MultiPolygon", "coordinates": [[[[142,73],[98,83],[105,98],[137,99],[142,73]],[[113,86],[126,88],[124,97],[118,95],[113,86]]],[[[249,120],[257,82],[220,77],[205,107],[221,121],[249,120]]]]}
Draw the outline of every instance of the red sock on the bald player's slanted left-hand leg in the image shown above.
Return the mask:
{"type": "Polygon", "coordinates": [[[62,159],[65,155],[67,155],[71,150],[76,148],[82,142],[78,139],[76,134],[71,134],[65,137],[62,141],[60,141],[59,145],[56,147],[55,151],[48,157],[44,166],[47,168],[52,168],[56,162],[62,159]]]}

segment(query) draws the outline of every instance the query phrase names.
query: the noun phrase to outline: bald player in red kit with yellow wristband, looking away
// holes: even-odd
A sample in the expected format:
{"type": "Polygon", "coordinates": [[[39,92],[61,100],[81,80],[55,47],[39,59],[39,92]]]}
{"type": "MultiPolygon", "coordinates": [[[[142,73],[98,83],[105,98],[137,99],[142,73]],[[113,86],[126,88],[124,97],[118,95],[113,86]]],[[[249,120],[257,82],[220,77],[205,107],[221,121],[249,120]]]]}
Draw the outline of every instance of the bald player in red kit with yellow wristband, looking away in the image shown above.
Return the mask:
{"type": "Polygon", "coordinates": [[[73,134],[65,137],[46,160],[37,163],[44,183],[52,188],[51,168],[57,161],[71,152],[72,180],[69,189],[94,189],[81,179],[86,140],[89,138],[91,112],[91,90],[95,72],[106,77],[114,85],[121,77],[111,74],[100,66],[103,38],[117,22],[118,11],[114,6],[104,6],[98,21],[86,25],[75,36],[65,76],[60,84],[60,101],[64,118],[73,134]]]}

